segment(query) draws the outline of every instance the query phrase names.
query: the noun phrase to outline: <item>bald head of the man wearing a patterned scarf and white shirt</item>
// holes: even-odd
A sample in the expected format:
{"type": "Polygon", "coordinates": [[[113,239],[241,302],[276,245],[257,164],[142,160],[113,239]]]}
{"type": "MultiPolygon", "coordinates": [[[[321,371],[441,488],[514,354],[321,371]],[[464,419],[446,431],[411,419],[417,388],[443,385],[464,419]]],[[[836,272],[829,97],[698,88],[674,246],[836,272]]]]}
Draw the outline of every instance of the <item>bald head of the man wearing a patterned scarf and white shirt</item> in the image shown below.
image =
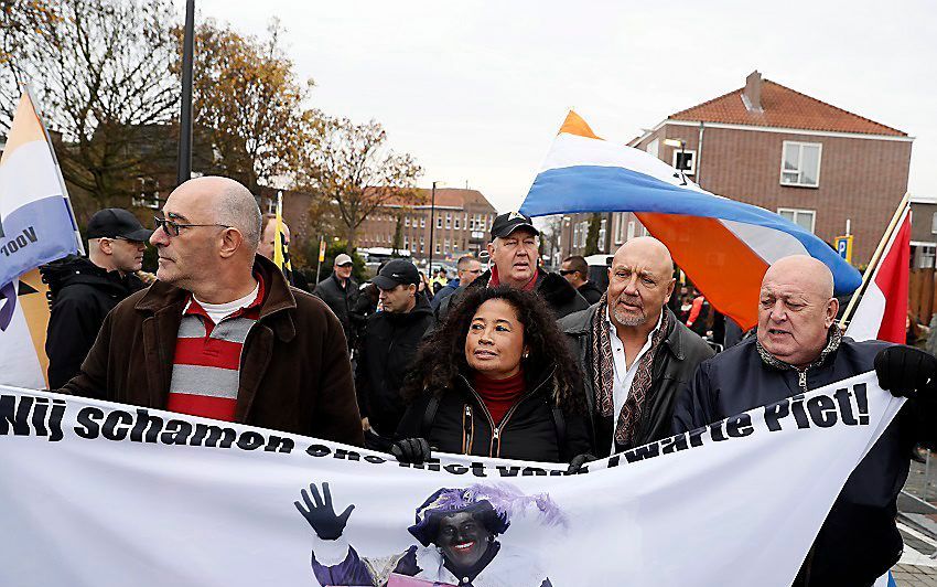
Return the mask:
{"type": "Polygon", "coordinates": [[[608,268],[608,313],[616,328],[653,329],[674,292],[674,260],[653,236],[622,245],[608,268]]]}

